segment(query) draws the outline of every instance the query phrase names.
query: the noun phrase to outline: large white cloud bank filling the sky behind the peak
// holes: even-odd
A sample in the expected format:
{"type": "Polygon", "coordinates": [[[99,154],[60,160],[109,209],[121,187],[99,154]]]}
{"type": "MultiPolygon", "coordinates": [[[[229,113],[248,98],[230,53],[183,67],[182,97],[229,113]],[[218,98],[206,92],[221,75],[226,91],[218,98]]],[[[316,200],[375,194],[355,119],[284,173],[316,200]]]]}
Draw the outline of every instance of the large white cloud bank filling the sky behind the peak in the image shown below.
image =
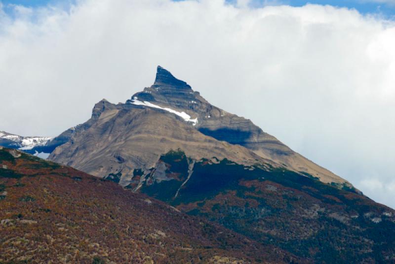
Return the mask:
{"type": "Polygon", "coordinates": [[[1,130],[57,135],[100,99],[124,102],[151,85],[161,65],[395,207],[393,189],[381,195],[363,182],[394,181],[394,22],[223,0],[14,9],[0,12],[1,130]]]}

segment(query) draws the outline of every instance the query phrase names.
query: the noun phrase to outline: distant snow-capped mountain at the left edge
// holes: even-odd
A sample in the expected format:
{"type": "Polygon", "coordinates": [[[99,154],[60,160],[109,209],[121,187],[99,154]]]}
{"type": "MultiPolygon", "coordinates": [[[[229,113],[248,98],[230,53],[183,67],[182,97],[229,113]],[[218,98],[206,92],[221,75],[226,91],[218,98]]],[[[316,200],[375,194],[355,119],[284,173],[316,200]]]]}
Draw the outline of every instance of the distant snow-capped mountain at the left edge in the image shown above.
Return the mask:
{"type": "Polygon", "coordinates": [[[47,158],[49,152],[39,151],[36,148],[46,146],[52,139],[53,137],[48,136],[20,136],[0,131],[1,146],[23,150],[40,158],[47,158]]]}

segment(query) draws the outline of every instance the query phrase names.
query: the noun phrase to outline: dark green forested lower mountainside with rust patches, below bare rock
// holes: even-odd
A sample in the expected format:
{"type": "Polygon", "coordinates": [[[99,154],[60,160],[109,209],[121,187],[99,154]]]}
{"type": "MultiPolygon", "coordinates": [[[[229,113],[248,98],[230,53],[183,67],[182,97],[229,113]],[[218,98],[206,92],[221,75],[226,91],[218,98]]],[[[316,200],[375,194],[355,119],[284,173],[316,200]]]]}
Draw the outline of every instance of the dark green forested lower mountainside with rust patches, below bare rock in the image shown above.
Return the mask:
{"type": "Polygon", "coordinates": [[[162,155],[148,175],[135,172],[144,177],[137,192],[315,263],[395,262],[395,211],[355,189],[284,168],[189,160],[162,155]]]}

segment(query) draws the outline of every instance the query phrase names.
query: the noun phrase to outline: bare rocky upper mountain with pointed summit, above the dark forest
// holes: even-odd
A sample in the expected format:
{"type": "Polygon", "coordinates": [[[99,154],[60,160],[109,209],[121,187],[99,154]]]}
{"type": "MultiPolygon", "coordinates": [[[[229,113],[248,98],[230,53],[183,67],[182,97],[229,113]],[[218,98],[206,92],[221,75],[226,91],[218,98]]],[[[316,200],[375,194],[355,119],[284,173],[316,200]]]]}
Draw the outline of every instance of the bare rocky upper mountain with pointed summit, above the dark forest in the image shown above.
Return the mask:
{"type": "Polygon", "coordinates": [[[103,99],[93,108],[90,120],[73,133],[64,134],[71,136],[70,140],[49,159],[99,177],[121,172],[122,185],[127,184],[134,169],[150,169],[161,154],[180,148],[197,160],[216,157],[241,164],[286,166],[325,183],[352,187],[250,120],[211,105],[161,66],[151,87],[125,104],[103,99]]]}

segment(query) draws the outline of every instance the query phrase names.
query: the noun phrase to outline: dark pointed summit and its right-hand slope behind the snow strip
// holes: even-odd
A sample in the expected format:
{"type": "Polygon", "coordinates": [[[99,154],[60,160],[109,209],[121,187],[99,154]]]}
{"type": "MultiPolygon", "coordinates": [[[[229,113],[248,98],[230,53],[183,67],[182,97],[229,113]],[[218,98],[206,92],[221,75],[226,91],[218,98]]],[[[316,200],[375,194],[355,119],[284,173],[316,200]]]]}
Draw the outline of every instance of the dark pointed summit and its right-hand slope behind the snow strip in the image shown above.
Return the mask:
{"type": "MultiPolygon", "coordinates": [[[[228,113],[194,92],[185,82],[176,79],[166,69],[158,66],[154,85],[135,94],[141,100],[185,111],[198,119],[196,129],[219,140],[244,146],[262,158],[272,160],[288,169],[313,175],[324,183],[352,185],[331,171],[294,152],[276,137],[263,132],[250,120],[228,113]]],[[[133,98],[132,97],[132,98],[133,98]]]]}

